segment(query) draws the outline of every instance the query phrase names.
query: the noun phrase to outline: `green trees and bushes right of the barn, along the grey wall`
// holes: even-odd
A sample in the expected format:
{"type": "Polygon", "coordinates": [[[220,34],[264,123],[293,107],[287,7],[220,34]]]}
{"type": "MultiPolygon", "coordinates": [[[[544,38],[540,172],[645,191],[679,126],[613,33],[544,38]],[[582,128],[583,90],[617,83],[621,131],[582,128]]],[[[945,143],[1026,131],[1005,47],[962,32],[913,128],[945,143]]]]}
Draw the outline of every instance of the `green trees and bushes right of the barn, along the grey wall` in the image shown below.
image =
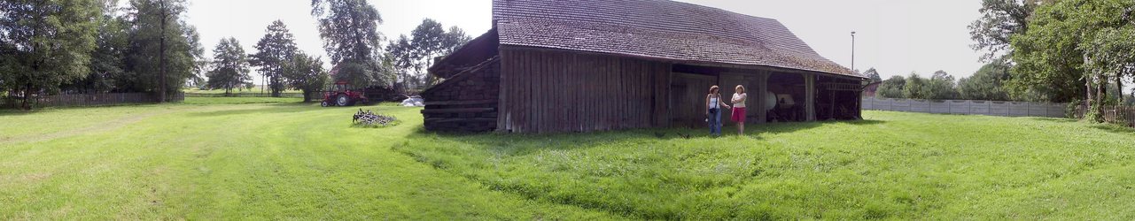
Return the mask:
{"type": "Polygon", "coordinates": [[[877,93],[1069,102],[1090,107],[1096,121],[1103,107],[1135,102],[1135,92],[1124,92],[1135,76],[1135,1],[982,0],[980,12],[969,25],[972,48],[989,65],[956,82],[955,92],[936,75],[910,75],[882,80],[877,93]]]}

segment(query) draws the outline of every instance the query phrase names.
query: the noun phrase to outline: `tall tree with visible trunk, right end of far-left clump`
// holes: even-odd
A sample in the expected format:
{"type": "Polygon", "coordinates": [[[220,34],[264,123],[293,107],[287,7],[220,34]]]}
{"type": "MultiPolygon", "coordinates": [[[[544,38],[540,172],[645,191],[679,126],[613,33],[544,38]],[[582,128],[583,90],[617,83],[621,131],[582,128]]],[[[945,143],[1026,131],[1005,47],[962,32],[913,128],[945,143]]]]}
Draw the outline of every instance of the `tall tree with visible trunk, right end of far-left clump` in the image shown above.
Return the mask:
{"type": "Polygon", "coordinates": [[[125,91],[173,95],[200,73],[204,49],[196,28],[185,23],[185,0],[131,0],[125,91]]]}

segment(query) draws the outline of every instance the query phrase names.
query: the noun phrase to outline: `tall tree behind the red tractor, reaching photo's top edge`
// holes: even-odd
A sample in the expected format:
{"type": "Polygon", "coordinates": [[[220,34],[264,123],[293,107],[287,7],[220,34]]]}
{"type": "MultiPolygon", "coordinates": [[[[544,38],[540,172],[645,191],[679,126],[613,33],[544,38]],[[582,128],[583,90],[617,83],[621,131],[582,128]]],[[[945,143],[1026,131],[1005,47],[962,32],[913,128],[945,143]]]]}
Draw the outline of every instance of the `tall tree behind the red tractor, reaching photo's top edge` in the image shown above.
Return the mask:
{"type": "Polygon", "coordinates": [[[382,17],[365,0],[312,0],[323,49],[337,67],[336,80],[355,85],[390,85],[392,73],[380,67],[378,25],[382,17]]]}

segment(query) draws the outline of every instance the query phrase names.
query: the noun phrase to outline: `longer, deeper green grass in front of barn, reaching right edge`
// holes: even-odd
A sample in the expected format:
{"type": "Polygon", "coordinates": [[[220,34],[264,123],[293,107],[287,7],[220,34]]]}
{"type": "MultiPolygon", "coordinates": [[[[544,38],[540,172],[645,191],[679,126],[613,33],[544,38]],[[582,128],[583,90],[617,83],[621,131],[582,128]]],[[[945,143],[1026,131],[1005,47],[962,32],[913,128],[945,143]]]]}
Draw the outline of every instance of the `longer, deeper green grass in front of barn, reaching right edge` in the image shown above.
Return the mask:
{"type": "Polygon", "coordinates": [[[865,117],[691,139],[674,134],[705,133],[419,134],[395,150],[494,189],[632,218],[1135,218],[1130,129],[1043,118],[865,117]]]}

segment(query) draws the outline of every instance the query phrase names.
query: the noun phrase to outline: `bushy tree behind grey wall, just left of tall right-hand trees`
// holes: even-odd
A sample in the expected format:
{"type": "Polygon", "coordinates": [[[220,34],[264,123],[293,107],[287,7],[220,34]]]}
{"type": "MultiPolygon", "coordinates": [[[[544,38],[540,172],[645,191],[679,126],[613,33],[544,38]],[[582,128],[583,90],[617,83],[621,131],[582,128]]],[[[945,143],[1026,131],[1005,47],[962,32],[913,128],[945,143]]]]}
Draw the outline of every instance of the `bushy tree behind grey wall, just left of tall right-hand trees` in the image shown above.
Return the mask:
{"type": "Polygon", "coordinates": [[[995,60],[992,63],[982,66],[977,73],[968,78],[958,79],[958,91],[961,99],[985,100],[985,101],[1008,101],[1009,94],[1001,86],[1001,82],[1009,78],[1008,63],[1003,60],[995,60]]]}

